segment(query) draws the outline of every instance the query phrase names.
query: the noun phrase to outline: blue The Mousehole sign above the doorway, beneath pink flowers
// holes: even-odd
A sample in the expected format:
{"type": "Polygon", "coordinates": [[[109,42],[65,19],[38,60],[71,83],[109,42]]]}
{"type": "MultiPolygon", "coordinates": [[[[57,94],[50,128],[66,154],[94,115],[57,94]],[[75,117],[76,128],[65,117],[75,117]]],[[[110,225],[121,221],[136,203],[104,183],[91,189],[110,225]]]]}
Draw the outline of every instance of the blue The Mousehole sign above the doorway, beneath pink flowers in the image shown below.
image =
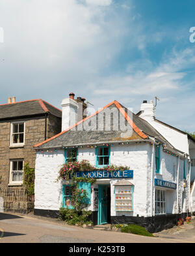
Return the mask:
{"type": "Polygon", "coordinates": [[[92,170],[86,172],[74,172],[76,177],[87,177],[96,179],[105,178],[133,178],[133,170],[113,170],[109,172],[107,170],[92,170]]]}

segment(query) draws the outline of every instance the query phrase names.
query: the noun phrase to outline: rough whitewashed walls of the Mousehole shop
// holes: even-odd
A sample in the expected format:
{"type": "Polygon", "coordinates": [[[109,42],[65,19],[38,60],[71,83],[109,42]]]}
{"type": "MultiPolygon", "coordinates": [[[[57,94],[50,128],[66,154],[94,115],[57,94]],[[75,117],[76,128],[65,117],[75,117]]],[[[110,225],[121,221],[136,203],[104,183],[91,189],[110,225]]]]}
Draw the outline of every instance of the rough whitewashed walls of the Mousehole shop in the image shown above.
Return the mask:
{"type": "MultiPolygon", "coordinates": [[[[78,160],[87,159],[92,165],[96,163],[95,148],[78,148],[78,160]]],[[[135,185],[133,195],[132,213],[126,216],[150,216],[151,214],[151,155],[153,146],[150,144],[129,144],[110,147],[110,163],[114,165],[126,165],[133,170],[133,178],[129,182],[135,185]]],[[[155,158],[154,158],[155,160],[155,158]]],[[[56,182],[60,166],[64,163],[64,151],[37,152],[35,167],[35,209],[59,210],[62,204],[62,182],[56,182]]],[[[188,168],[187,178],[188,178],[188,168]]],[[[155,172],[155,161],[153,162],[155,172]]],[[[177,183],[177,157],[168,155],[161,151],[161,174],[155,174],[153,178],[159,178],[169,182],[177,183]]],[[[114,207],[114,184],[117,179],[99,179],[98,184],[110,184],[111,194],[111,216],[124,215],[123,212],[116,212],[114,207]]],[[[67,182],[64,182],[66,184],[67,182]]],[[[160,189],[160,188],[159,188],[160,189]]],[[[188,189],[188,188],[187,188],[188,189]]],[[[155,188],[153,187],[153,202],[155,188]]],[[[188,193],[183,192],[183,161],[179,171],[179,203],[188,207],[188,193]],[[185,195],[185,200],[184,199],[185,195]]],[[[168,213],[176,213],[176,190],[167,190],[168,213]]],[[[94,191],[92,190],[92,204],[88,210],[94,211],[94,191]]],[[[186,209],[183,209],[185,212],[186,209]]]]}

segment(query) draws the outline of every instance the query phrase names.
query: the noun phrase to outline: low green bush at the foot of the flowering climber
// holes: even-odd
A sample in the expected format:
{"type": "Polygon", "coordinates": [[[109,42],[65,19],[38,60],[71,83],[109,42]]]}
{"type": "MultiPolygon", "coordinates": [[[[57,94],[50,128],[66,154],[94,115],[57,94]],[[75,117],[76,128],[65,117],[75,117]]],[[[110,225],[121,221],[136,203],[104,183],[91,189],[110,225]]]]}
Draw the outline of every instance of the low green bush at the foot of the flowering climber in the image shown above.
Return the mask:
{"type": "Polygon", "coordinates": [[[83,224],[92,224],[92,221],[88,221],[88,216],[90,216],[92,212],[90,211],[79,211],[77,212],[75,209],[67,209],[60,208],[59,218],[70,225],[83,225],[83,224]]]}

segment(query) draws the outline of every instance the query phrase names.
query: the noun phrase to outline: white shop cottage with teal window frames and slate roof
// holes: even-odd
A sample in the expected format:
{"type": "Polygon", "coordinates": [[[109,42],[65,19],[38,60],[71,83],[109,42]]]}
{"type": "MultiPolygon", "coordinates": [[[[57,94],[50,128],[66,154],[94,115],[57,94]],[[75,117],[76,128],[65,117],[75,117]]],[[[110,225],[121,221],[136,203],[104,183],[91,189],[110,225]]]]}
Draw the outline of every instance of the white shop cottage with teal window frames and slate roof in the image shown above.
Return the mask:
{"type": "Polygon", "coordinates": [[[77,104],[73,98],[62,103],[64,131],[34,146],[34,214],[57,216],[60,207],[73,207],[70,183],[56,182],[61,165],[70,158],[86,159],[97,168],[77,174],[96,178],[87,191],[94,224],[138,223],[156,232],[189,214],[190,163],[185,150],[118,101],[70,127],[70,112],[75,119],[77,104]],[[129,168],[98,170],[112,164],[129,168]]]}

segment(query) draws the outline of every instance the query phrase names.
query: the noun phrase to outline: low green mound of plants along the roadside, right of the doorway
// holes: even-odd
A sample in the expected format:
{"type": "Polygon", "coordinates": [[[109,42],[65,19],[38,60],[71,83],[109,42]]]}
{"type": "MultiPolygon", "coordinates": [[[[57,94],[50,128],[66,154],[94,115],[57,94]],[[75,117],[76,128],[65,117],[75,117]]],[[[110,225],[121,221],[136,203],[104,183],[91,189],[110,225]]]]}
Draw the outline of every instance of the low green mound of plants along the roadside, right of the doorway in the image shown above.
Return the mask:
{"type": "Polygon", "coordinates": [[[148,232],[144,227],[139,225],[130,224],[130,225],[122,225],[117,224],[115,225],[121,232],[131,233],[131,234],[139,234],[140,236],[153,236],[150,232],[148,232]]]}

